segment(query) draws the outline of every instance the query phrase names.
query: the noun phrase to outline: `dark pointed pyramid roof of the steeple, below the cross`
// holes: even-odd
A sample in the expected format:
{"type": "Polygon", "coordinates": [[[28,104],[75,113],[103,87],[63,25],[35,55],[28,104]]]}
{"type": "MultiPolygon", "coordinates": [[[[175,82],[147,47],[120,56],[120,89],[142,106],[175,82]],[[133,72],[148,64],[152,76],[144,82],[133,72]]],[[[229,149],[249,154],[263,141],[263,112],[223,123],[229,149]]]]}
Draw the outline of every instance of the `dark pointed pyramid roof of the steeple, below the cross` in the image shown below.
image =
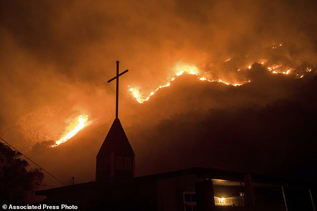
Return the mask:
{"type": "Polygon", "coordinates": [[[114,119],[108,134],[105,136],[104,141],[97,153],[97,157],[111,151],[121,153],[132,152],[134,155],[133,149],[118,118],[114,119]]]}

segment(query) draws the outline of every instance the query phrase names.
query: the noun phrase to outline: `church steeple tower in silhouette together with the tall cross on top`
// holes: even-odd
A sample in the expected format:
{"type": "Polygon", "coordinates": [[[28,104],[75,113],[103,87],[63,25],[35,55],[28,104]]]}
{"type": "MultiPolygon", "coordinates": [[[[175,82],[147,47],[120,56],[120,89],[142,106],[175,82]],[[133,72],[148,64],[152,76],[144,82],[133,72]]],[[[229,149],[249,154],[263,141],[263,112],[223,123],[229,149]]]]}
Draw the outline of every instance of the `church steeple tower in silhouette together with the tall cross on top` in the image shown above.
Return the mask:
{"type": "Polygon", "coordinates": [[[135,154],[118,118],[119,76],[127,71],[119,74],[119,61],[116,61],[116,76],[108,80],[116,79],[115,119],[96,156],[96,181],[134,176],[135,154]]]}

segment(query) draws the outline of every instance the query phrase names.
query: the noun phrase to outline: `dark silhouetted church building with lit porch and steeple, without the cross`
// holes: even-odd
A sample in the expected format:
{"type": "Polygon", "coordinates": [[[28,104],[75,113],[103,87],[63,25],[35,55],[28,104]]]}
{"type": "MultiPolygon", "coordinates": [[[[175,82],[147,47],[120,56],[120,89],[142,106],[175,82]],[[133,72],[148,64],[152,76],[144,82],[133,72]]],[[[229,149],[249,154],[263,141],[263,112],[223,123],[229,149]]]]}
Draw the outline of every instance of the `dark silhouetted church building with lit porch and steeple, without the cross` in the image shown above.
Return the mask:
{"type": "Polygon", "coordinates": [[[36,191],[40,203],[80,210],[308,210],[311,184],[193,167],[134,177],[133,149],[115,118],[96,156],[93,182],[36,191]],[[287,204],[287,205],[286,205],[287,204]]]}

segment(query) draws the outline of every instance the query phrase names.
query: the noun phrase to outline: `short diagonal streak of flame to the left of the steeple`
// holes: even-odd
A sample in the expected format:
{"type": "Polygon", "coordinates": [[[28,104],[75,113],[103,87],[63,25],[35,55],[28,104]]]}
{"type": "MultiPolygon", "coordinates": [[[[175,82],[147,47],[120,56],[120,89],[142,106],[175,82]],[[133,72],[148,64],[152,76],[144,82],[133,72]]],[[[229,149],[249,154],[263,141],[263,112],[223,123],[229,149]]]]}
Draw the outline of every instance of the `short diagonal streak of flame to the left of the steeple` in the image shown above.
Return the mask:
{"type": "Polygon", "coordinates": [[[88,116],[87,115],[79,115],[76,118],[76,121],[72,122],[68,127],[72,128],[70,131],[67,132],[67,134],[59,140],[56,140],[55,144],[51,145],[50,147],[58,146],[61,143],[66,142],[68,139],[70,139],[72,136],[74,136],[79,130],[81,130],[83,127],[90,124],[90,122],[87,122],[88,116]]]}

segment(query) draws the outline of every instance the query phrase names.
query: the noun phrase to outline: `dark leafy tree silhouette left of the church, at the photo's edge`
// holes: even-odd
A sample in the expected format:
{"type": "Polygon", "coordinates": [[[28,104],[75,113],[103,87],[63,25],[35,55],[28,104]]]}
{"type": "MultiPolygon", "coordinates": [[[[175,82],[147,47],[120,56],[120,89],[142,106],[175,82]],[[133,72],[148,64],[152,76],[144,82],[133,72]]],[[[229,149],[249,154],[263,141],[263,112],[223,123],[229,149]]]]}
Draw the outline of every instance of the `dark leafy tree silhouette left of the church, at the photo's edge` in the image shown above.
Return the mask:
{"type": "Polygon", "coordinates": [[[0,142],[0,203],[22,203],[41,183],[39,169],[27,170],[21,154],[0,142]]]}

